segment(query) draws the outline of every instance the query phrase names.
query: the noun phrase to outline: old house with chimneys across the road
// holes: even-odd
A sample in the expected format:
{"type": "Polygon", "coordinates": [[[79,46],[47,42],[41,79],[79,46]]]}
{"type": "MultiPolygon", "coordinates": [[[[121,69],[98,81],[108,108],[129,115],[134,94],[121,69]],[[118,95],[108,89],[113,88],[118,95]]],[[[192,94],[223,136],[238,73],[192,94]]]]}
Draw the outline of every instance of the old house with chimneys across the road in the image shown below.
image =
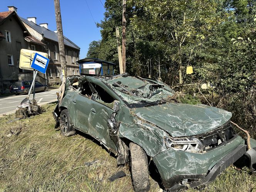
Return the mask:
{"type": "MultiPolygon", "coordinates": [[[[80,48],[64,37],[68,75],[79,74],[80,48]]],[[[49,65],[46,74],[38,73],[37,81],[49,85],[61,83],[61,63],[57,33],[48,24],[36,24],[36,18],[23,19],[16,7],[0,12],[0,94],[8,93],[15,81],[32,80],[33,72],[19,69],[20,49],[47,52],[49,65]]]]}

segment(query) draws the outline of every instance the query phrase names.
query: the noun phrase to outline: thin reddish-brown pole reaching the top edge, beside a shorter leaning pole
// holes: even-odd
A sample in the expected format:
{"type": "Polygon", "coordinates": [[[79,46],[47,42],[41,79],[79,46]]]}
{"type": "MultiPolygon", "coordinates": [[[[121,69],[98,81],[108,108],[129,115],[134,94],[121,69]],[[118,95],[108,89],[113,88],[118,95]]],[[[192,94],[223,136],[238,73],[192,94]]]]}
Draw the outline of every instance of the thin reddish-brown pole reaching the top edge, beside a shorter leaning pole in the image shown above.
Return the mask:
{"type": "Polygon", "coordinates": [[[123,72],[125,73],[126,69],[126,40],[125,40],[125,26],[126,26],[126,0],[123,0],[123,32],[122,32],[122,63],[123,63],[123,72]]]}

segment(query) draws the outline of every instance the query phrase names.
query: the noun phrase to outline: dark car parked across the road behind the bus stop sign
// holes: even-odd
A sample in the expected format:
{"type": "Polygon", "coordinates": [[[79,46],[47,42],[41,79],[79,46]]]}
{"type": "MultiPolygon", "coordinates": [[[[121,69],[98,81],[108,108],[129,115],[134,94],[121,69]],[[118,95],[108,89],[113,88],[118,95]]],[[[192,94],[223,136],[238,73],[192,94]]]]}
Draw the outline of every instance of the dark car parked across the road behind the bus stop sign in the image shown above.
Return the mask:
{"type": "MultiPolygon", "coordinates": [[[[32,81],[16,81],[10,86],[10,92],[15,95],[29,93],[32,81]]],[[[35,92],[48,91],[48,85],[35,81],[35,92]]]]}

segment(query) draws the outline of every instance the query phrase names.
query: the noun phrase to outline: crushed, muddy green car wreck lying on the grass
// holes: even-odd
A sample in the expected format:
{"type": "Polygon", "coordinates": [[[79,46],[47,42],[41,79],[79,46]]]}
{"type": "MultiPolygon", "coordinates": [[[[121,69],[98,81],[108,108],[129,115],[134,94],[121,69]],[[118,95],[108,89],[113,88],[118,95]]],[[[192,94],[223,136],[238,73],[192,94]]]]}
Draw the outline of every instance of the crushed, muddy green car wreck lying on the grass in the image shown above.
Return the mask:
{"type": "Polygon", "coordinates": [[[147,77],[67,76],[53,112],[55,128],[65,136],[76,130],[93,136],[116,155],[118,165],[130,161],[135,191],[150,188],[150,159],[168,190],[208,184],[237,160],[256,173],[256,141],[247,150],[230,112],[173,103],[173,94],[147,77]]]}

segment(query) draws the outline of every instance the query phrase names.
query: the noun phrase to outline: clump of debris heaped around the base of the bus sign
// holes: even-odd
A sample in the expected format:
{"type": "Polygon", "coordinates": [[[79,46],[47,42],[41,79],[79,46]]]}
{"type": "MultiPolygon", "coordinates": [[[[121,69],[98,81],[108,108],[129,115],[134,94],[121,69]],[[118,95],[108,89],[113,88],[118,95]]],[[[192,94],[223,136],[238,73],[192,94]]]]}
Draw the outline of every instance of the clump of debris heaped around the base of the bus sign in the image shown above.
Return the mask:
{"type": "Polygon", "coordinates": [[[17,106],[15,117],[24,119],[33,115],[41,114],[42,112],[44,112],[42,107],[37,105],[35,99],[30,101],[26,98],[17,106]]]}

